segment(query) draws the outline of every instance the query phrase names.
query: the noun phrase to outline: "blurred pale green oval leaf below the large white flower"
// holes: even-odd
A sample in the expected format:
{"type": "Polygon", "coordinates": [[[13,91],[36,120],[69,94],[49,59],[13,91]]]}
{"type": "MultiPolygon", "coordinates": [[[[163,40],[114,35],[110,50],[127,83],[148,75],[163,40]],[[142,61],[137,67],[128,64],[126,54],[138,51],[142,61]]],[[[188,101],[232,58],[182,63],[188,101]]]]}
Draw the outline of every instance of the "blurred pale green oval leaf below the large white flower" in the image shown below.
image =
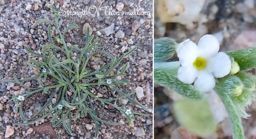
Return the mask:
{"type": "Polygon", "coordinates": [[[216,131],[215,121],[207,100],[184,99],[174,104],[175,117],[189,131],[201,137],[216,131]]]}

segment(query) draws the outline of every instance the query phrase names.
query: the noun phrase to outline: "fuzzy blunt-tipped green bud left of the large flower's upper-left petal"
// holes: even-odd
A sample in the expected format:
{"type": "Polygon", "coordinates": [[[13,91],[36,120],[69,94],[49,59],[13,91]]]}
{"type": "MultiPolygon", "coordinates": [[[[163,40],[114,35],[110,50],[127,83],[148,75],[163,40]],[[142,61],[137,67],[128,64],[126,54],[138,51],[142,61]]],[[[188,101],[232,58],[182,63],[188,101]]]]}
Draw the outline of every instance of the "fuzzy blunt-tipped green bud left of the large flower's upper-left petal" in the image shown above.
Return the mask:
{"type": "Polygon", "coordinates": [[[159,38],[154,43],[155,62],[164,62],[175,54],[177,43],[172,38],[159,38]]]}

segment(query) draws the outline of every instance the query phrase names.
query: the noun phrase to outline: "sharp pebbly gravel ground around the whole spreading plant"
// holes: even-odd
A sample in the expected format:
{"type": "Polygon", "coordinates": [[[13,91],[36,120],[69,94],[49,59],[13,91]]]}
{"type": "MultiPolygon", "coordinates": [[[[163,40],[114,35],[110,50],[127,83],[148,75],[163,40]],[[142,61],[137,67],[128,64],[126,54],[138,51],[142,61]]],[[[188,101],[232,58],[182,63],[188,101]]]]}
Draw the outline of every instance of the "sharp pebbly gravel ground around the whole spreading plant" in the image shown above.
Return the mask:
{"type": "MultiPolygon", "coordinates": [[[[49,8],[54,4],[57,11],[61,6],[66,6],[65,10],[82,11],[85,6],[116,6],[124,5],[122,11],[134,11],[136,5],[141,6],[141,10],[150,12],[148,15],[105,15],[101,11],[99,18],[96,14],[84,15],[63,15],[59,24],[67,26],[75,23],[79,26],[76,30],[68,30],[66,42],[76,44],[78,47],[84,44],[85,34],[83,28],[88,25],[94,36],[100,38],[99,44],[106,46],[103,50],[108,51],[115,57],[120,57],[122,53],[137,46],[138,48],[128,57],[125,57],[121,65],[129,62],[130,67],[126,76],[121,76],[119,80],[129,80],[131,83],[126,86],[118,86],[123,92],[128,93],[137,87],[143,88],[142,98],[132,95],[132,98],[139,101],[144,106],[152,110],[152,0],[0,0],[0,80],[13,79],[13,75],[18,78],[27,78],[36,74],[36,70],[27,65],[28,58],[35,57],[28,54],[24,46],[40,53],[42,46],[48,44],[47,25],[34,25],[38,19],[52,19],[53,13],[49,8]]],[[[52,31],[54,33],[55,30],[52,31]]],[[[91,59],[91,69],[97,68],[97,64],[106,62],[108,59],[103,56],[91,59]]],[[[119,67],[121,67],[121,65],[119,67]]],[[[117,69],[116,69],[117,70],[117,69]]],[[[24,82],[28,86],[37,87],[35,80],[24,82]]],[[[44,84],[51,85],[53,81],[48,79],[44,84]]],[[[95,126],[90,116],[72,121],[72,135],[69,135],[64,127],[51,127],[48,121],[52,115],[44,120],[28,126],[16,126],[14,122],[22,122],[20,114],[15,109],[14,102],[7,103],[13,95],[23,94],[26,89],[14,83],[0,82],[0,139],[10,134],[8,139],[93,139],[95,126]],[[7,132],[6,132],[7,131],[7,132]],[[8,133],[10,132],[10,133],[8,133]]],[[[116,97],[112,90],[105,87],[95,87],[94,93],[101,93],[104,98],[116,97]]],[[[34,111],[41,107],[47,96],[37,93],[24,103],[26,116],[32,116],[34,111]]],[[[53,102],[54,103],[54,102],[53,102]]],[[[98,139],[152,139],[153,138],[153,116],[150,112],[145,112],[131,102],[117,101],[117,105],[125,106],[135,112],[148,114],[149,117],[135,115],[135,120],[128,126],[128,119],[117,112],[112,107],[102,107],[95,102],[96,114],[105,120],[123,121],[123,124],[111,126],[101,124],[99,126],[98,139]]],[[[75,114],[72,115],[75,117],[75,114]]]]}

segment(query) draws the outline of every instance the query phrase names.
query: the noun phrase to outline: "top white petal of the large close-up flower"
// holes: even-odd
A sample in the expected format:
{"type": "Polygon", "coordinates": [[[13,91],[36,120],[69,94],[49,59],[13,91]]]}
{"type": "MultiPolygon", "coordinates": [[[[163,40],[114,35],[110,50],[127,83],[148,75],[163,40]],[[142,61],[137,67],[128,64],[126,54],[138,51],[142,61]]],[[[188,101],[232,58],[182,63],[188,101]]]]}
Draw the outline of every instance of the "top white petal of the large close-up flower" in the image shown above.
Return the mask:
{"type": "Polygon", "coordinates": [[[219,41],[213,35],[204,35],[198,41],[199,56],[201,57],[213,57],[220,49],[219,41]]]}

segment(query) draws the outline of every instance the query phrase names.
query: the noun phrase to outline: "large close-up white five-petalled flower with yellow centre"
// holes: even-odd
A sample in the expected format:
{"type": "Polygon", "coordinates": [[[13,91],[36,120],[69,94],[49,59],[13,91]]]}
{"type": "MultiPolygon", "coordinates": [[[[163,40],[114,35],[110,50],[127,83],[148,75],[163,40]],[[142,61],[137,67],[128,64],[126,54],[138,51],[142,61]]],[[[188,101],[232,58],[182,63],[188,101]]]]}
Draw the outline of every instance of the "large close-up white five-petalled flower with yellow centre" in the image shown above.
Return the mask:
{"type": "Polygon", "coordinates": [[[204,35],[196,45],[186,40],[177,48],[181,63],[178,79],[192,84],[202,92],[208,92],[216,85],[215,78],[229,74],[231,60],[224,52],[218,52],[220,44],[213,35],[204,35]]]}

